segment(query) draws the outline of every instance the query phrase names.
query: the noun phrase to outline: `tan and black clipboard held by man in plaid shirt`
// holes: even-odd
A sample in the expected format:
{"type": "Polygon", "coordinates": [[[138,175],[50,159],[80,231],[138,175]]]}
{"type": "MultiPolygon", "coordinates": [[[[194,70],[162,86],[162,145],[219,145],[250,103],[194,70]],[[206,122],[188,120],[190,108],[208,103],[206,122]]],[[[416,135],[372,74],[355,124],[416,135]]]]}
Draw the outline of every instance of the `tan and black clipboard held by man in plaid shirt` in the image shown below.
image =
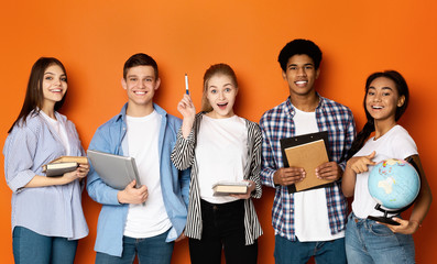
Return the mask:
{"type": "Polygon", "coordinates": [[[319,179],[316,168],[329,162],[328,132],[317,132],[281,140],[285,167],[302,167],[306,176],[304,180],[288,186],[288,193],[323,188],[334,180],[319,179]]]}

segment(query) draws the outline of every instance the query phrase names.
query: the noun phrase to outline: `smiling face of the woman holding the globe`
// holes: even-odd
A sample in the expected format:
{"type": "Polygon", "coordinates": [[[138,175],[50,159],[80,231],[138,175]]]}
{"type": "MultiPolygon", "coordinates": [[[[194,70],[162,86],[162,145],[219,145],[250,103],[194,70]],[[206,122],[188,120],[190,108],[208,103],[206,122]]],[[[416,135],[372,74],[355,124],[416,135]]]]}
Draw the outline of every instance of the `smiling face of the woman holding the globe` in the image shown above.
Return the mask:
{"type": "Polygon", "coordinates": [[[396,84],[386,77],[374,79],[365,95],[365,109],[375,121],[395,122],[398,107],[404,105],[405,97],[398,96],[396,84]]]}

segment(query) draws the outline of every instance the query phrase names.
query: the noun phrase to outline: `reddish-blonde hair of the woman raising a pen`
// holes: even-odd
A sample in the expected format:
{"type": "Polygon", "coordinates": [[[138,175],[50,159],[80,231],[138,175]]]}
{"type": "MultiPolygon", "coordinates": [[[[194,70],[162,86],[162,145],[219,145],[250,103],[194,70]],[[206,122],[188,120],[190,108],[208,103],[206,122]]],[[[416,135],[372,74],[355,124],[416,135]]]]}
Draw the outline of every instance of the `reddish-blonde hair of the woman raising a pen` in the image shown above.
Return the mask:
{"type": "Polygon", "coordinates": [[[237,76],[231,66],[227,64],[215,64],[211,65],[204,75],[204,94],[201,96],[201,111],[210,112],[212,111],[212,107],[208,101],[208,81],[215,75],[225,75],[231,78],[232,85],[238,89],[237,76]]]}

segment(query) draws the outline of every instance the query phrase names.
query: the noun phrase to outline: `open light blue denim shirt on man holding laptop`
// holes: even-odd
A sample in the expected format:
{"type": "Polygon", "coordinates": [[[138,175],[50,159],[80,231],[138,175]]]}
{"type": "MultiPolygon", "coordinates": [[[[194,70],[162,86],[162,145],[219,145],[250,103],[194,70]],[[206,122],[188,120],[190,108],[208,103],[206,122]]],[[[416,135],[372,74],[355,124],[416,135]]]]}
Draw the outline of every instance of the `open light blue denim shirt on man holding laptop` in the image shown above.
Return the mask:
{"type": "MultiPolygon", "coordinates": [[[[97,129],[89,150],[124,155],[128,154],[125,110],[128,103],[120,113],[97,129]]],[[[179,172],[170,160],[170,155],[176,142],[177,131],[182,124],[181,119],[167,114],[157,105],[153,106],[162,117],[159,155],[161,170],[161,188],[164,198],[165,210],[173,224],[166,242],[176,240],[183,232],[187,218],[189,170],[179,172]]],[[[117,199],[119,190],[106,185],[95,172],[92,166],[88,174],[88,195],[101,204],[101,211],[97,224],[97,239],[95,251],[109,255],[121,256],[123,251],[123,231],[128,216],[129,205],[121,205],[117,199]]]]}

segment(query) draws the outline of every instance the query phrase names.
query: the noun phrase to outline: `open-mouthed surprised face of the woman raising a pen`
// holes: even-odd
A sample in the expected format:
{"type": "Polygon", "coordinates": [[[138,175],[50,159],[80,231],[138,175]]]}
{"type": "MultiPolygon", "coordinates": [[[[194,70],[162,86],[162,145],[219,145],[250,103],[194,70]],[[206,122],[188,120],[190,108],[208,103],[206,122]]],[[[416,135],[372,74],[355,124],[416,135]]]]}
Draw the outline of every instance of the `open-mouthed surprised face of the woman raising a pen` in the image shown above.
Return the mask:
{"type": "Polygon", "coordinates": [[[208,117],[221,119],[230,118],[233,113],[233,103],[238,88],[233,85],[232,79],[227,75],[214,75],[206,87],[207,99],[212,107],[208,117]]]}

